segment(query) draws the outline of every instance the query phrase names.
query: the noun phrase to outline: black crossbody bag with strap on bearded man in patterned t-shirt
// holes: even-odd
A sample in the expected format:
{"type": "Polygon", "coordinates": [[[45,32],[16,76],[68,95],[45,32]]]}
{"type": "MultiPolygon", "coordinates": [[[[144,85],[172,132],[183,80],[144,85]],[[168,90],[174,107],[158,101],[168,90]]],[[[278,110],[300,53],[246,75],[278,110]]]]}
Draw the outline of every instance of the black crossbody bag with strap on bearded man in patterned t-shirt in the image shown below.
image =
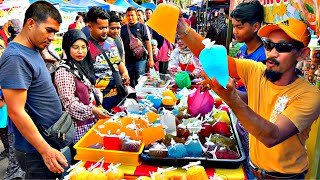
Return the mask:
{"type": "Polygon", "coordinates": [[[113,67],[113,64],[110,62],[108,56],[106,55],[106,53],[104,52],[104,50],[100,47],[100,45],[94,40],[92,39],[92,37],[89,37],[89,40],[99,49],[99,51],[102,53],[102,55],[104,56],[104,58],[107,60],[109,67],[112,71],[112,77],[115,81],[116,84],[116,88],[117,88],[117,95],[123,99],[124,97],[126,97],[128,95],[128,90],[125,87],[125,85],[122,83],[122,79],[120,76],[119,71],[116,71],[113,67]]]}

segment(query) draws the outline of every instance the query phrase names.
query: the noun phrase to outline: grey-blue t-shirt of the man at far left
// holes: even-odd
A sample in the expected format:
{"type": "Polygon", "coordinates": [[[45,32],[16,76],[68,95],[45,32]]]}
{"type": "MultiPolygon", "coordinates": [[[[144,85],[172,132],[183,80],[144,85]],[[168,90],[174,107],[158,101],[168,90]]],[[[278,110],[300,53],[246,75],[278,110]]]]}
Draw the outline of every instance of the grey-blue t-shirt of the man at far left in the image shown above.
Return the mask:
{"type": "MultiPolygon", "coordinates": [[[[26,109],[47,129],[62,114],[60,99],[51,76],[37,50],[11,42],[0,59],[0,85],[2,89],[27,90],[26,109]]],[[[26,153],[37,150],[13,126],[14,148],[26,153]]]]}

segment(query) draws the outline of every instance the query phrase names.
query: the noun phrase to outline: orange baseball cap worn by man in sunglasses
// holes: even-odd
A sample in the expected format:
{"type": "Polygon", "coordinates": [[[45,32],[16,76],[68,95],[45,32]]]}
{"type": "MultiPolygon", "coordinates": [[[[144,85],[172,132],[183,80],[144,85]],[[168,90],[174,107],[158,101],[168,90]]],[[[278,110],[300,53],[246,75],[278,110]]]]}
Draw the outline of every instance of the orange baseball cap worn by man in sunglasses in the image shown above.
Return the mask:
{"type": "Polygon", "coordinates": [[[302,42],[305,47],[310,42],[311,35],[307,29],[307,25],[294,18],[287,18],[276,24],[264,25],[258,31],[258,35],[260,37],[268,37],[272,31],[277,29],[283,30],[292,39],[302,42]]]}

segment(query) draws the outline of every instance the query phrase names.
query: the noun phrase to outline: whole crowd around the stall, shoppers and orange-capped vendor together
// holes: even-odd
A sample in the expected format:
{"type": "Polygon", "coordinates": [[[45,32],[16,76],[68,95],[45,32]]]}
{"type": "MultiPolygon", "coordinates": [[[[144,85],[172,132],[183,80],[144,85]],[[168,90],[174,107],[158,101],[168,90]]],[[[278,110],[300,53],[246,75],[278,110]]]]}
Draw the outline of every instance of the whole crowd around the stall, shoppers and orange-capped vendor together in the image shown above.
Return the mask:
{"type": "MultiPolygon", "coordinates": [[[[68,165],[76,163],[71,160],[76,153],[73,145],[122,100],[117,77],[135,87],[139,76],[155,68],[162,74],[187,71],[192,77],[204,77],[202,85],[229,105],[238,118],[249,179],[303,179],[308,171],[305,141],[320,114],[319,90],[295,71],[297,62],[310,53],[307,26],[293,18],[263,25],[259,1],[240,3],[230,18],[234,38],[244,45],[236,58],[228,57],[232,79],[223,88],[201,73],[198,57],[204,38],[193,29],[196,14],[190,20],[179,17],[175,44],[145,24],[152,15],[151,9],[129,7],[123,21],[115,12],[92,7],[64,33],[62,60],[48,49],[62,22],[52,4],[37,1],[27,9],[23,24],[8,23],[11,36],[0,41],[0,108],[6,107],[10,117],[9,133],[0,129],[5,145],[0,160],[10,158],[7,174],[60,178],[68,165]],[[54,70],[46,66],[50,59],[59,61],[54,70]],[[63,110],[76,129],[69,153],[62,153],[34,123],[49,128],[63,110]]],[[[225,43],[224,16],[217,16],[208,33],[219,44],[225,43]]]]}

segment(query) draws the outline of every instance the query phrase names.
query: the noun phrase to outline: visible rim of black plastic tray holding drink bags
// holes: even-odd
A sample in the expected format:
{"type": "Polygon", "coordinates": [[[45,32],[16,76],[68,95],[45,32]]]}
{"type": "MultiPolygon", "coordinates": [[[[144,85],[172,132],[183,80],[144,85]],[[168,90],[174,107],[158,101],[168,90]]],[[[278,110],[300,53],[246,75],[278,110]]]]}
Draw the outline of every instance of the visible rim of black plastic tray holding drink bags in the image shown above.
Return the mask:
{"type": "Polygon", "coordinates": [[[159,165],[159,166],[184,166],[189,162],[201,161],[201,165],[204,167],[236,169],[243,163],[246,156],[244,154],[239,135],[236,131],[236,116],[229,114],[231,120],[231,130],[236,140],[237,153],[239,153],[239,159],[212,159],[208,157],[184,157],[184,158],[156,158],[150,157],[148,153],[142,152],[141,159],[146,164],[159,165]]]}

